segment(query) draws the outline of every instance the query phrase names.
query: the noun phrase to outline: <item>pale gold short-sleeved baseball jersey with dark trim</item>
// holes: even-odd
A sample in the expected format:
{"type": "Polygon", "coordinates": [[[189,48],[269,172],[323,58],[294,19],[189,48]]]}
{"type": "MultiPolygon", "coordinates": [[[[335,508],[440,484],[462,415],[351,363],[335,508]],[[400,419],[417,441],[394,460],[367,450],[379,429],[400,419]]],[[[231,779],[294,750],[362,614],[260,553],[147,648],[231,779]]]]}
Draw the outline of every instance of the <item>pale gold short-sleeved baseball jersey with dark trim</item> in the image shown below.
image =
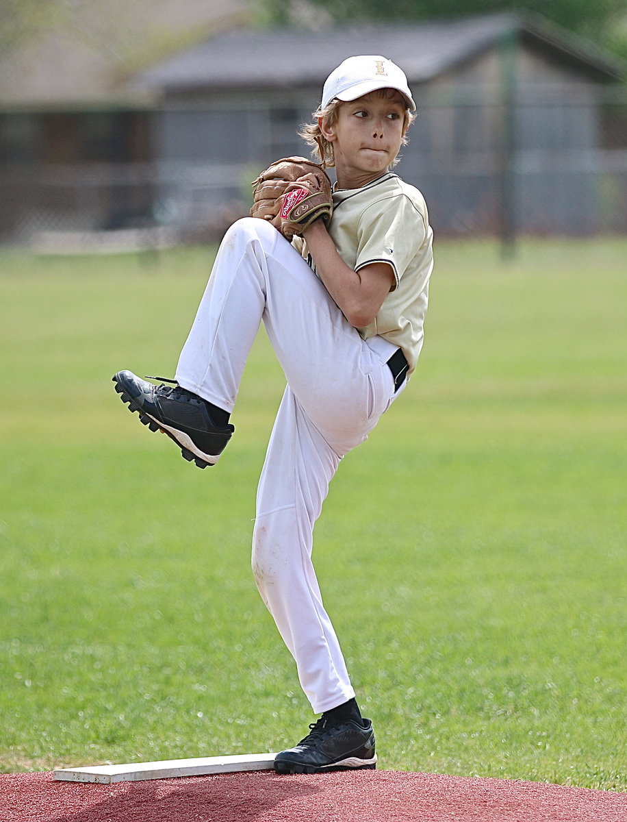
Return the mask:
{"type": "MultiPolygon", "coordinates": [[[[333,195],[329,233],[339,256],[353,270],[385,262],[395,287],[375,320],[357,329],[364,339],[380,335],[403,349],[408,374],[422,349],[423,323],[433,268],[433,233],[424,197],[397,174],[386,172],[362,188],[333,195]]],[[[307,256],[306,248],[303,248],[307,256]]],[[[311,261],[310,261],[311,262],[311,261]]]]}

